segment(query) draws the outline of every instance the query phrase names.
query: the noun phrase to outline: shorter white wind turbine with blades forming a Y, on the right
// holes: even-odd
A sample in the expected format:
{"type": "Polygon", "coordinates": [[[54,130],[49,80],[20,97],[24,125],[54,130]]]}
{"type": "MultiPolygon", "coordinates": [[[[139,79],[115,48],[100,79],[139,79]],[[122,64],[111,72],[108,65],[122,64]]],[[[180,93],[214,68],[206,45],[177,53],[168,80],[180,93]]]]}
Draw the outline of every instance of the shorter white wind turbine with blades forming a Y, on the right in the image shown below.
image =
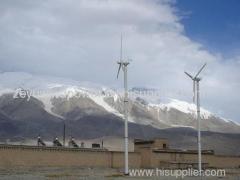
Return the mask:
{"type": "Polygon", "coordinates": [[[200,124],[200,93],[199,93],[199,82],[201,81],[201,78],[198,77],[198,75],[202,72],[204,67],[207,65],[205,63],[201,69],[197,72],[195,76],[190,75],[187,72],[184,72],[188,77],[190,77],[193,81],[193,103],[197,103],[197,120],[198,120],[198,170],[201,175],[202,172],[202,152],[201,152],[201,124],[200,124]],[[196,102],[196,87],[197,86],[197,102],[196,102]]]}

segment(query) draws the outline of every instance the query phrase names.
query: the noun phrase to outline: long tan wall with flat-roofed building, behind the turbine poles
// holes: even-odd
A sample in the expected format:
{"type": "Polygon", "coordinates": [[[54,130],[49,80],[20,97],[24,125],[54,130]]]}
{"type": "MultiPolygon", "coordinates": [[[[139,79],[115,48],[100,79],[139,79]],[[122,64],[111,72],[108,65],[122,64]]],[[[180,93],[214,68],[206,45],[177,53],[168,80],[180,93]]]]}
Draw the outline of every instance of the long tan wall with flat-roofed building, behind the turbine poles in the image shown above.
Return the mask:
{"type": "MultiPolygon", "coordinates": [[[[197,168],[195,150],[171,149],[167,139],[135,140],[130,168],[197,168]]],[[[203,168],[240,168],[240,156],[202,151],[203,168]]],[[[0,145],[0,168],[39,166],[124,167],[124,152],[106,148],[0,145]]]]}

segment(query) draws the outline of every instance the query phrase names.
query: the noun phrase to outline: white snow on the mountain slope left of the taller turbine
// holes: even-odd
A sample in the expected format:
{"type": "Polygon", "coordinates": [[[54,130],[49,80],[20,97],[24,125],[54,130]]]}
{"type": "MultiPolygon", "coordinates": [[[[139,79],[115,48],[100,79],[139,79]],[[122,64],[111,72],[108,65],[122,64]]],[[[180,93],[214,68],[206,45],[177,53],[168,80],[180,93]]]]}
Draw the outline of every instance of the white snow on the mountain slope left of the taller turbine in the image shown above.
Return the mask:
{"type": "MultiPolygon", "coordinates": [[[[13,93],[17,88],[29,90],[31,95],[41,100],[45,105],[45,110],[55,116],[59,116],[52,112],[51,98],[66,97],[72,98],[76,95],[91,98],[96,104],[103,107],[109,113],[113,113],[122,117],[118,111],[109,106],[101,94],[102,89],[106,89],[101,85],[90,82],[79,83],[77,81],[64,78],[53,78],[47,76],[33,76],[24,72],[4,72],[0,74],[0,95],[5,93],[13,93]]],[[[113,93],[113,91],[109,92],[113,93]]],[[[113,94],[114,99],[118,96],[113,94]]]]}

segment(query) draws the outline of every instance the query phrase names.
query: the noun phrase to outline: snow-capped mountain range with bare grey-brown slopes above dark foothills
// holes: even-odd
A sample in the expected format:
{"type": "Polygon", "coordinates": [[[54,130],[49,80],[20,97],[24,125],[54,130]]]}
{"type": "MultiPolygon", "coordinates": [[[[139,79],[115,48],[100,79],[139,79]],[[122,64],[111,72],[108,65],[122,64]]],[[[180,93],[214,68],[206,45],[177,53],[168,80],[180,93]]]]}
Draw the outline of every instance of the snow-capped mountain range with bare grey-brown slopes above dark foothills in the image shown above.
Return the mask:
{"type": "MultiPolygon", "coordinates": [[[[122,92],[89,82],[77,82],[63,78],[34,76],[23,72],[0,74],[0,95],[12,93],[15,98],[21,90],[25,98],[36,98],[44,110],[60,120],[79,120],[82,117],[96,117],[112,114],[123,118],[122,92]]],[[[177,99],[141,95],[133,88],[129,91],[129,121],[164,129],[188,127],[196,129],[196,107],[177,99]]],[[[145,89],[147,91],[147,89],[145,89]]],[[[1,103],[5,101],[0,101],[1,103]]],[[[1,106],[3,107],[3,106],[1,106]]],[[[28,106],[26,106],[28,107],[28,106]]],[[[17,107],[16,107],[17,108],[17,107]]],[[[22,107],[19,107],[22,108],[22,107]]],[[[19,115],[19,114],[18,114],[19,115]]],[[[20,116],[20,115],[19,115],[20,116]]],[[[204,131],[240,133],[240,125],[225,120],[201,108],[201,124],[204,131]]]]}

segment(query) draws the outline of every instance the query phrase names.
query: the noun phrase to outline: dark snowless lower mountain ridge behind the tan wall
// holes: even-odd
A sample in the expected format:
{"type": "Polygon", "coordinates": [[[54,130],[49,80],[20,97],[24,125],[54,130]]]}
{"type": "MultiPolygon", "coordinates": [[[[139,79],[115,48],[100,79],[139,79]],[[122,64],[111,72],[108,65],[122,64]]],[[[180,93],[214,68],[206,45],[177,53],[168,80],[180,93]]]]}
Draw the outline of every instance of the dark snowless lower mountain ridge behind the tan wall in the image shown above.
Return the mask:
{"type": "MultiPolygon", "coordinates": [[[[24,143],[34,139],[36,141],[38,135],[49,142],[55,137],[61,140],[63,123],[66,125],[67,139],[71,136],[75,139],[94,139],[104,136],[123,137],[123,119],[105,111],[94,101],[88,99],[89,103],[86,103],[87,101],[82,99],[79,101],[74,96],[69,99],[57,98],[55,101],[56,105],[53,107],[58,110],[61,108],[67,110],[61,114],[65,117],[64,119],[45,111],[42,102],[35,97],[31,97],[28,101],[27,98],[14,99],[12,94],[0,96],[0,109],[3,112],[0,111],[0,142],[24,143]],[[83,105],[91,111],[87,112],[84,108],[80,108],[83,105]],[[92,105],[96,109],[96,113],[92,112],[92,105]],[[65,109],[66,107],[69,109],[65,109]]],[[[167,138],[172,148],[197,149],[197,131],[188,127],[159,129],[151,124],[129,122],[129,137],[167,138]]],[[[239,133],[202,131],[203,149],[213,149],[216,154],[240,155],[239,139],[239,133]]]]}

